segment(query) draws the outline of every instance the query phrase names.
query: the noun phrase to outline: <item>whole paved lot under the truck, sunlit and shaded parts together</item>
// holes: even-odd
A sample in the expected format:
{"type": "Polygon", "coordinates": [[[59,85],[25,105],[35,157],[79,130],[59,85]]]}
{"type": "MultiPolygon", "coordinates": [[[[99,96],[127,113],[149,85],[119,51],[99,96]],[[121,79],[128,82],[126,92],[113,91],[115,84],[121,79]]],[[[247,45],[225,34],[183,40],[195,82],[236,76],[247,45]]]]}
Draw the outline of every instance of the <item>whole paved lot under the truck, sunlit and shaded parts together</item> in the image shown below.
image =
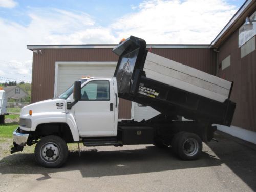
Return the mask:
{"type": "Polygon", "coordinates": [[[81,157],[71,145],[58,169],[39,167],[32,152],[4,154],[0,191],[255,191],[256,146],[222,132],[215,138],[197,161],[153,145],[82,147],[81,157]]]}

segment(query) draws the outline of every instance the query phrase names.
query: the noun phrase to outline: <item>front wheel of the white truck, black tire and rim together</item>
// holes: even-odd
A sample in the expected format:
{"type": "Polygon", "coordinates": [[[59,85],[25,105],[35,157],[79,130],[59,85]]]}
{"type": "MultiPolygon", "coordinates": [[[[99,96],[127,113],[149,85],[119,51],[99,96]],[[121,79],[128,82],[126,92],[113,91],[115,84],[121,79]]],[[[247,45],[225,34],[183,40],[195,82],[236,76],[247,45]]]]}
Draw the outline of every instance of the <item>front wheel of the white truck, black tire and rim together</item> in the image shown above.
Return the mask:
{"type": "Polygon", "coordinates": [[[47,168],[61,167],[69,154],[66,142],[59,136],[43,137],[35,147],[36,162],[47,168]]]}

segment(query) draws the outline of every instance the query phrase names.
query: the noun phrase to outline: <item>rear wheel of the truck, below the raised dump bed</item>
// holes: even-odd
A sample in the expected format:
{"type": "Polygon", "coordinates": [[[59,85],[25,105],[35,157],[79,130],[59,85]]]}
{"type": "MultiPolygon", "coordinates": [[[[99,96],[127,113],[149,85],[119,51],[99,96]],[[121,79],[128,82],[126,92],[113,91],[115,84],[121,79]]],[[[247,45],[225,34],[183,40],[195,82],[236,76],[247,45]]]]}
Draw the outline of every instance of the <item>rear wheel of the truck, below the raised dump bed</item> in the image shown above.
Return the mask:
{"type": "Polygon", "coordinates": [[[183,132],[179,135],[177,148],[181,159],[196,160],[202,152],[202,140],[194,133],[183,132]]]}

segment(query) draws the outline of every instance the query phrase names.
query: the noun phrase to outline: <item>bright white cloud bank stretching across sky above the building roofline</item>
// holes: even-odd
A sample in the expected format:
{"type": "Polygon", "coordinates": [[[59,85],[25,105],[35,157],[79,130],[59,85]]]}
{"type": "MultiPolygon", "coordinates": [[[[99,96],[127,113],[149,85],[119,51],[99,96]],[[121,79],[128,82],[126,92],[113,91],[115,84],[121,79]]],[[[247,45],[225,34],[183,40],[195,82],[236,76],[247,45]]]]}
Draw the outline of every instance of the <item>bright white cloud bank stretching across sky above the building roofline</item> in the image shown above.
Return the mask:
{"type": "Polygon", "coordinates": [[[87,13],[53,8],[28,8],[26,26],[0,18],[0,69],[31,79],[32,51],[26,45],[117,44],[130,35],[148,44],[209,44],[237,9],[225,0],[155,0],[131,6],[136,13],[107,27],[87,13]]]}

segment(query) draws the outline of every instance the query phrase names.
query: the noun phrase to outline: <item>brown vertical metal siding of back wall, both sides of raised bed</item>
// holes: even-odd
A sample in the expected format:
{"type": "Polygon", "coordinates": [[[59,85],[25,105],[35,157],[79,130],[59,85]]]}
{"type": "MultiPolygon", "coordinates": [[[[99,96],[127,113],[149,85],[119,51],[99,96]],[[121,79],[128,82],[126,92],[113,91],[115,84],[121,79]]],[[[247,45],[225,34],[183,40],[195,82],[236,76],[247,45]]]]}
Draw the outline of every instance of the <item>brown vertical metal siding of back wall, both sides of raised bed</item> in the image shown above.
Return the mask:
{"type": "MultiPolygon", "coordinates": [[[[160,49],[153,53],[215,75],[215,53],[211,49],[160,49]]],[[[31,102],[53,98],[56,61],[118,61],[112,49],[42,49],[33,53],[31,102]]],[[[131,101],[120,99],[119,118],[131,118],[131,101]],[[130,110],[130,111],[129,111],[130,110]]]]}

